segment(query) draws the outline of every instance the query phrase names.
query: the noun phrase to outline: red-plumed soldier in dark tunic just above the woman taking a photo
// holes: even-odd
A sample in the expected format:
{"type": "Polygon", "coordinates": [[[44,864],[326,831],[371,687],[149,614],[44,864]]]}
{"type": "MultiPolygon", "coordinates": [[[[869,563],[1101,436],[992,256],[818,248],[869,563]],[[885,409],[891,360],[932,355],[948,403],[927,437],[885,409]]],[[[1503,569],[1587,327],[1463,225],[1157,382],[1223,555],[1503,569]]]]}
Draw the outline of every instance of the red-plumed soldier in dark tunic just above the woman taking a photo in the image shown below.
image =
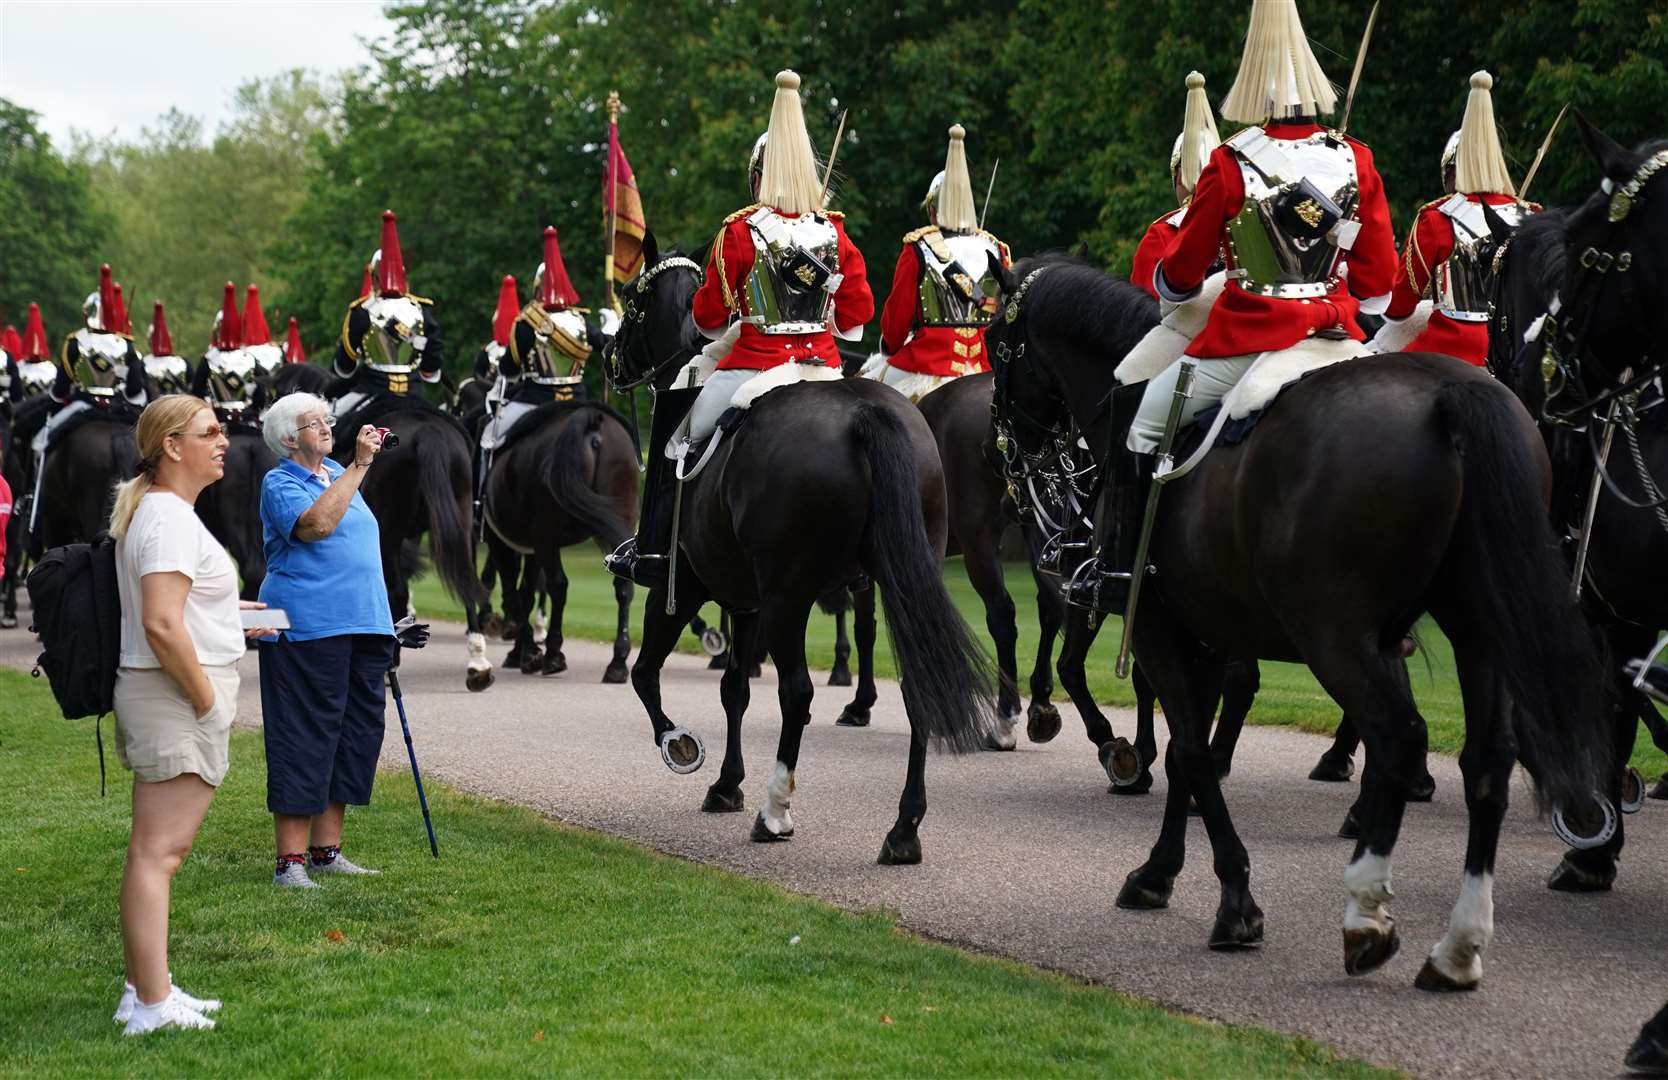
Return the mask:
{"type": "Polygon", "coordinates": [[[445,364],[434,300],[407,289],[394,210],[382,212],[382,245],[365,275],[370,289],[349,304],[335,346],[337,416],[372,394],[410,394],[412,376],[439,382],[445,364]]]}

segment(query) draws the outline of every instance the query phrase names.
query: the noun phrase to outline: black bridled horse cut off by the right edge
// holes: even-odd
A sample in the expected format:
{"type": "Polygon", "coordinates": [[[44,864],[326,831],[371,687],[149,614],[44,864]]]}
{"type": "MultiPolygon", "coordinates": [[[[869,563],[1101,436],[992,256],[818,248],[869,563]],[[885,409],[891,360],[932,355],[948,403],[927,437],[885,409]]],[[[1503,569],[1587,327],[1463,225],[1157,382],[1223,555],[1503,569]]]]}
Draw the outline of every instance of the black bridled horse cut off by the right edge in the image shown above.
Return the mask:
{"type": "MultiPolygon", "coordinates": [[[[1576,119],[1611,189],[1623,189],[1668,149],[1650,142],[1626,150],[1576,119]]],[[[1668,499],[1658,486],[1668,477],[1668,401],[1660,379],[1665,359],[1653,356],[1668,290],[1663,264],[1651,259],[1668,244],[1665,199],[1661,182],[1641,185],[1628,212],[1611,220],[1611,194],[1595,192],[1580,207],[1536,214],[1516,230],[1490,212],[1500,265],[1490,367],[1540,421],[1553,461],[1553,526],[1571,574],[1586,531],[1581,606],[1613,658],[1643,656],[1668,629],[1668,499]],[[1610,437],[1606,417],[1620,421],[1610,437]]],[[[1616,663],[1608,668],[1620,671],[1616,663]]],[[[1626,763],[1638,726],[1645,723],[1668,749],[1668,724],[1631,679],[1611,678],[1608,691],[1615,729],[1608,791],[1636,810],[1643,783],[1626,763]]],[[[1656,795],[1668,796],[1668,778],[1656,795]]],[[[1618,828],[1610,843],[1571,851],[1550,885],[1608,890],[1621,843],[1618,828]]]]}

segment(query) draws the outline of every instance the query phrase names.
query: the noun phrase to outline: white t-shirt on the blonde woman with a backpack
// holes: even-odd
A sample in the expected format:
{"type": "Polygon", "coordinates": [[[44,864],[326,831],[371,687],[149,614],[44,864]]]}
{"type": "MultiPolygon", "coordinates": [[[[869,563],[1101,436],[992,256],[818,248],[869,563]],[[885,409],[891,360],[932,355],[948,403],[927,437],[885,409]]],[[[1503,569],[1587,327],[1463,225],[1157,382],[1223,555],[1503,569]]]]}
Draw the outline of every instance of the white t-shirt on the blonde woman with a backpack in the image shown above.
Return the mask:
{"type": "Polygon", "coordinates": [[[160,668],[145,641],[145,574],[178,573],[192,579],[185,596],[185,633],[200,664],[235,664],[244,658],[244,619],[237,608],[237,569],[192,504],[172,491],[138,501],[127,534],[115,544],[115,579],[122,591],[122,666],[160,668]]]}

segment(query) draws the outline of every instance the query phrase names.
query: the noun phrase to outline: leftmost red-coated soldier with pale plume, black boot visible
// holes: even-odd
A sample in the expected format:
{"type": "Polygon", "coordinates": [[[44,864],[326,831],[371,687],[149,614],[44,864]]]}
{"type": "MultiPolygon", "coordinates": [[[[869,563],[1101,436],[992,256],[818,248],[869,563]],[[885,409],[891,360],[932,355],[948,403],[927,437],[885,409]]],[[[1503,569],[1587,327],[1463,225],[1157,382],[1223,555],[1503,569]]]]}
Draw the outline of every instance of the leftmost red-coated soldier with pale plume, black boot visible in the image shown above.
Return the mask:
{"type": "Polygon", "coordinates": [[[749,175],[757,175],[759,202],[724,219],[692,302],[696,329],[734,344],[704,381],[706,366],[692,364],[679,386],[656,394],[639,536],[605,559],[609,571],[644,588],[666,584],[674,543],[669,461],[712,436],[737,391],[761,372],[792,364],[794,376],[837,379],[834,337],[861,339],[874,315],[862,252],[846,237],[844,215],[824,207],[794,72],[776,75],[771,127],[754,144],[749,175]],[[684,437],[671,444],[686,421],[684,437]]]}

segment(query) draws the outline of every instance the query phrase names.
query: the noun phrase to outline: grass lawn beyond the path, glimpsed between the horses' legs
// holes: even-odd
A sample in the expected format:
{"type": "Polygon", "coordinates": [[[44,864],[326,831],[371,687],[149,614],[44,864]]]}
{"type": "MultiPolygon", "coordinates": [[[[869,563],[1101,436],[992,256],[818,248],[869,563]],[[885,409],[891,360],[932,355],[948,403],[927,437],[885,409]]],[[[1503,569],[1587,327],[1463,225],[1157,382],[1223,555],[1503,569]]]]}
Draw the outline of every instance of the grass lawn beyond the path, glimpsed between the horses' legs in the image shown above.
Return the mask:
{"type": "MultiPolygon", "coordinates": [[[[562,566],[567,569],[570,579],[564,633],[569,638],[612,641],[614,589],[610,588],[612,579],[602,569],[600,553],[594,544],[569,548],[562,556],[562,566]]],[[[989,639],[984,634],[984,604],[979,601],[977,593],[972,591],[972,586],[967,584],[967,574],[962,571],[959,558],[951,559],[946,566],[944,583],[949,586],[956,606],[961,608],[967,623],[972,624],[979,638],[986,641],[986,648],[989,648],[989,639]]],[[[1019,609],[1019,688],[1024,693],[1037,648],[1036,586],[1026,566],[1017,563],[1007,564],[1007,591],[1019,609]]],[[[445,596],[439,579],[432,574],[417,583],[414,594],[419,611],[462,621],[462,609],[445,596]]],[[[636,614],[632,618],[634,638],[642,629],[644,596],[646,593],[639,589],[636,614]]],[[[716,619],[717,608],[707,608],[704,614],[716,619]]],[[[1114,618],[1108,619],[1106,626],[1101,628],[1096,649],[1089,654],[1089,686],[1099,701],[1133,706],[1134,694],[1129,691],[1129,684],[1113,676],[1113,658],[1116,656],[1121,624],[1123,621],[1114,618]]],[[[1429,724],[1431,749],[1460,753],[1465,743],[1465,721],[1460,706],[1460,683],[1454,679],[1453,651],[1448,648],[1448,639],[1443,638],[1441,631],[1429,619],[1421,623],[1419,638],[1424,643],[1424,653],[1416,654],[1409,661],[1409,671],[1413,673],[1413,693],[1419,701],[1419,711],[1429,724]]],[[[692,653],[699,651],[692,636],[684,638],[682,648],[692,653]]],[[[1059,644],[1056,643],[1056,654],[1058,649],[1059,644]]],[[[497,663],[504,649],[492,648],[489,651],[492,653],[492,661],[497,663]]],[[[834,619],[821,613],[811,616],[806,654],[814,668],[832,666],[834,619]]],[[[881,619],[881,644],[876,648],[876,669],[886,676],[896,674],[891,646],[886,644],[884,618],[881,619]]],[[[844,691],[824,689],[822,693],[844,691]]],[[[1071,699],[1064,693],[1058,693],[1056,699],[1066,713],[1066,723],[1073,724],[1076,713],[1071,709],[1071,699]]],[[[1304,731],[1331,734],[1338,724],[1338,706],[1319,688],[1308,668],[1301,664],[1264,663],[1263,689],[1258,694],[1256,706],[1251,709],[1249,723],[1289,724],[1304,731]]],[[[1359,766],[1359,758],[1356,765],[1359,766]]],[[[1633,748],[1633,766],[1646,778],[1655,778],[1668,770],[1668,756],[1651,744],[1650,734],[1643,728],[1640,728],[1640,736],[1633,748]]]]}

